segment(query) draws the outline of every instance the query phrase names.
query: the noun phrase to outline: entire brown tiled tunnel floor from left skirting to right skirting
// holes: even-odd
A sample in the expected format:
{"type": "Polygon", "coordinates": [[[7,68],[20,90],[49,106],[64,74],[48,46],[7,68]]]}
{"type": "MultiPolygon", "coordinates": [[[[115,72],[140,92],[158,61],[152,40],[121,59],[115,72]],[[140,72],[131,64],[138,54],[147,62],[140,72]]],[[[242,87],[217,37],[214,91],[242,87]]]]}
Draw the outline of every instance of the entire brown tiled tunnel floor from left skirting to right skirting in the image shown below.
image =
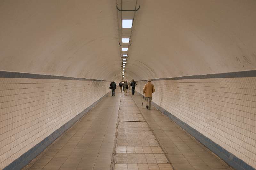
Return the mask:
{"type": "Polygon", "coordinates": [[[138,94],[109,94],[24,170],[231,169],[157,109],[148,110],[141,102],[138,94]]]}

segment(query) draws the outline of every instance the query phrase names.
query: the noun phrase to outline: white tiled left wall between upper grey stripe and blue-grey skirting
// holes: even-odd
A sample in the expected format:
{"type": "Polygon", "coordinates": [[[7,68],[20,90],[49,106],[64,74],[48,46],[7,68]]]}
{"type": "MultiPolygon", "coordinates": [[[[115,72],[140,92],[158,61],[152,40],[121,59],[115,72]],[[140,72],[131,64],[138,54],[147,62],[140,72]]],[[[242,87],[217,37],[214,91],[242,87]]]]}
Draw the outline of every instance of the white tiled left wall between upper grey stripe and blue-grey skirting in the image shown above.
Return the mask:
{"type": "Polygon", "coordinates": [[[104,96],[109,84],[0,78],[0,169],[104,96]]]}

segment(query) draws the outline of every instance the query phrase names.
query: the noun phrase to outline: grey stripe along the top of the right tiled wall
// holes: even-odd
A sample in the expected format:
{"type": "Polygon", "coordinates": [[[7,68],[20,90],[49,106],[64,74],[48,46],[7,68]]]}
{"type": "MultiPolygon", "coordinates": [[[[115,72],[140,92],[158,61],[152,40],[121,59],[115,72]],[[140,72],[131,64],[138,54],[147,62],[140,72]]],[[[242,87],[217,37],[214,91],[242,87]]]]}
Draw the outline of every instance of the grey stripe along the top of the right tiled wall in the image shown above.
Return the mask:
{"type": "MultiPolygon", "coordinates": [[[[159,80],[187,80],[187,79],[239,78],[239,77],[256,77],[256,70],[230,72],[230,73],[194,75],[194,76],[181,76],[181,77],[172,77],[172,78],[157,78],[157,79],[151,79],[151,80],[159,81],[159,80]]],[[[147,81],[147,80],[139,80],[139,81],[147,81]]],[[[139,81],[137,81],[137,82],[139,82],[139,81]]]]}

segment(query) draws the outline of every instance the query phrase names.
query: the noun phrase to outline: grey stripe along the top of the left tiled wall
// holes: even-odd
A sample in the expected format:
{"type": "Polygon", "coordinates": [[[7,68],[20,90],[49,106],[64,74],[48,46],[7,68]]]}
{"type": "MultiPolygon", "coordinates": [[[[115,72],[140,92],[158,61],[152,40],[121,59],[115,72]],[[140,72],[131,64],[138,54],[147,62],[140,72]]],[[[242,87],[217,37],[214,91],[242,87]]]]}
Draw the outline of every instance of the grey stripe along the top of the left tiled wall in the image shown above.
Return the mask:
{"type": "Polygon", "coordinates": [[[9,72],[9,71],[0,71],[0,78],[33,78],[33,79],[55,79],[55,80],[107,81],[107,80],[97,80],[97,79],[89,79],[89,78],[76,78],[76,77],[33,74],[33,73],[20,73],[20,72],[9,72]]]}

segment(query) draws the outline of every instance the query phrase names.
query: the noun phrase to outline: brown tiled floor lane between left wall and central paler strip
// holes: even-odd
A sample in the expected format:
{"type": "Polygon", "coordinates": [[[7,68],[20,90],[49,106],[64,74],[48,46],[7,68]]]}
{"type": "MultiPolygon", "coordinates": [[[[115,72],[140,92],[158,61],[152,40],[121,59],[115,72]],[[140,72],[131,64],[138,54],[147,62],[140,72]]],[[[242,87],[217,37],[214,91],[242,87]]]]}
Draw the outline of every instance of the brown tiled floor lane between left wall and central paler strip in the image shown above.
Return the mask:
{"type": "Polygon", "coordinates": [[[94,109],[24,169],[109,170],[115,146],[120,94],[108,94],[94,109]]]}

